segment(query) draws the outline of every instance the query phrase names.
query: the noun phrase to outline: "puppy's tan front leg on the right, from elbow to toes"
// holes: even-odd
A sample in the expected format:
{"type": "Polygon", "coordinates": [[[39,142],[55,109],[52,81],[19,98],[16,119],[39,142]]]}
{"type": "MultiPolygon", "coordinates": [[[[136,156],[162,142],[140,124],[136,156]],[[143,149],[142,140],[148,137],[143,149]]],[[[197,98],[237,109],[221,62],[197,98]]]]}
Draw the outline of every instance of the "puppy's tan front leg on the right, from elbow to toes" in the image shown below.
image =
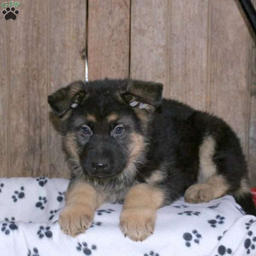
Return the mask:
{"type": "Polygon", "coordinates": [[[120,227],[133,241],[142,241],[153,234],[157,209],[163,205],[163,192],[146,183],[133,186],[127,193],[120,227]]]}

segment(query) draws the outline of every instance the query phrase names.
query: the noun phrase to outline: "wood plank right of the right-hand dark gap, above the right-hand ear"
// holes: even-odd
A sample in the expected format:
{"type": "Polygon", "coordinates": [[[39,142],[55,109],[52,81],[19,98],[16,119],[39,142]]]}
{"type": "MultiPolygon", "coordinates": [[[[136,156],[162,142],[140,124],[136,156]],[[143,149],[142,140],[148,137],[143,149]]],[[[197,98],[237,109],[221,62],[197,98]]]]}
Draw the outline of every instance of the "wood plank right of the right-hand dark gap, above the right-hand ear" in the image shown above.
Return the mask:
{"type": "Polygon", "coordinates": [[[130,77],[164,82],[169,1],[131,1],[130,77]]]}

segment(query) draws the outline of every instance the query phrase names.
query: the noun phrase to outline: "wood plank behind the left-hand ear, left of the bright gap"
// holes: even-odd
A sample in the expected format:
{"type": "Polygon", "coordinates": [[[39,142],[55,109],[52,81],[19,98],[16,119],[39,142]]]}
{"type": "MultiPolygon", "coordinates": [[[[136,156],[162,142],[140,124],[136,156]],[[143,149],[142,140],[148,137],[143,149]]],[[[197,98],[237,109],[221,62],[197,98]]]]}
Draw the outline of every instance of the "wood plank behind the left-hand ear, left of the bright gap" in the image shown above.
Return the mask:
{"type": "MultiPolygon", "coordinates": [[[[49,93],[74,80],[84,80],[85,64],[80,52],[86,45],[86,1],[50,1],[49,93]]],[[[50,110],[49,110],[50,111],[50,110]]],[[[49,114],[49,177],[69,177],[66,155],[58,129],[59,119],[49,114]]]]}

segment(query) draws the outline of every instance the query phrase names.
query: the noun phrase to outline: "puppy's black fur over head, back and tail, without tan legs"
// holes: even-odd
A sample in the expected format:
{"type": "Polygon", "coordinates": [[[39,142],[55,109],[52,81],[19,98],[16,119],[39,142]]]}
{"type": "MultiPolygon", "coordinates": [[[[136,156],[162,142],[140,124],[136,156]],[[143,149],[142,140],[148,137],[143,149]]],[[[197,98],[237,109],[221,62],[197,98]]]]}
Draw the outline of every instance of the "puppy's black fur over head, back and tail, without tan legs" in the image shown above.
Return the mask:
{"type": "Polygon", "coordinates": [[[215,141],[212,161],[216,175],[227,183],[227,194],[235,195],[248,214],[256,215],[251,195],[242,190],[241,181],[247,182],[247,166],[230,126],[183,103],[162,100],[161,93],[161,84],[105,79],[75,82],[49,96],[52,109],[63,116],[64,142],[68,135],[73,136],[72,146],[66,147],[73,163],[70,184],[84,179],[109,200],[122,201],[131,186],[147,182],[157,170],[164,178],[153,185],[163,189],[165,204],[170,204],[198,182],[199,148],[210,136],[215,141]],[[74,102],[76,108],[71,107],[74,102]],[[131,102],[134,105],[130,106],[131,102]],[[118,116],[116,122],[106,121],[111,113],[118,116]],[[96,122],[88,121],[88,114],[95,116],[96,122]],[[114,134],[120,122],[124,132],[114,134]],[[89,134],[81,132],[83,125],[90,128],[89,134]],[[132,144],[134,134],[143,137],[143,148],[131,161],[131,146],[139,147],[132,144]],[[76,157],[72,147],[76,148],[76,157]],[[95,172],[94,162],[108,167],[95,172]]]}

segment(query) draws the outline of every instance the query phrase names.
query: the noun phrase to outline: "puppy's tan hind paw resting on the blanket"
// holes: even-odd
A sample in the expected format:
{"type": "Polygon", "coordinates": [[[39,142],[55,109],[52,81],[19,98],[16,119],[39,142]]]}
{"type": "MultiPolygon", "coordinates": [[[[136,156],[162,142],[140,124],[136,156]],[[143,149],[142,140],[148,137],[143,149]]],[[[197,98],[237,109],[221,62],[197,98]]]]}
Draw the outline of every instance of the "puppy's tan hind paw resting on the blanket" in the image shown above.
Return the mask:
{"type": "Polygon", "coordinates": [[[185,192],[185,200],[191,204],[209,202],[212,199],[212,186],[209,184],[195,184],[190,186],[185,192]]]}

